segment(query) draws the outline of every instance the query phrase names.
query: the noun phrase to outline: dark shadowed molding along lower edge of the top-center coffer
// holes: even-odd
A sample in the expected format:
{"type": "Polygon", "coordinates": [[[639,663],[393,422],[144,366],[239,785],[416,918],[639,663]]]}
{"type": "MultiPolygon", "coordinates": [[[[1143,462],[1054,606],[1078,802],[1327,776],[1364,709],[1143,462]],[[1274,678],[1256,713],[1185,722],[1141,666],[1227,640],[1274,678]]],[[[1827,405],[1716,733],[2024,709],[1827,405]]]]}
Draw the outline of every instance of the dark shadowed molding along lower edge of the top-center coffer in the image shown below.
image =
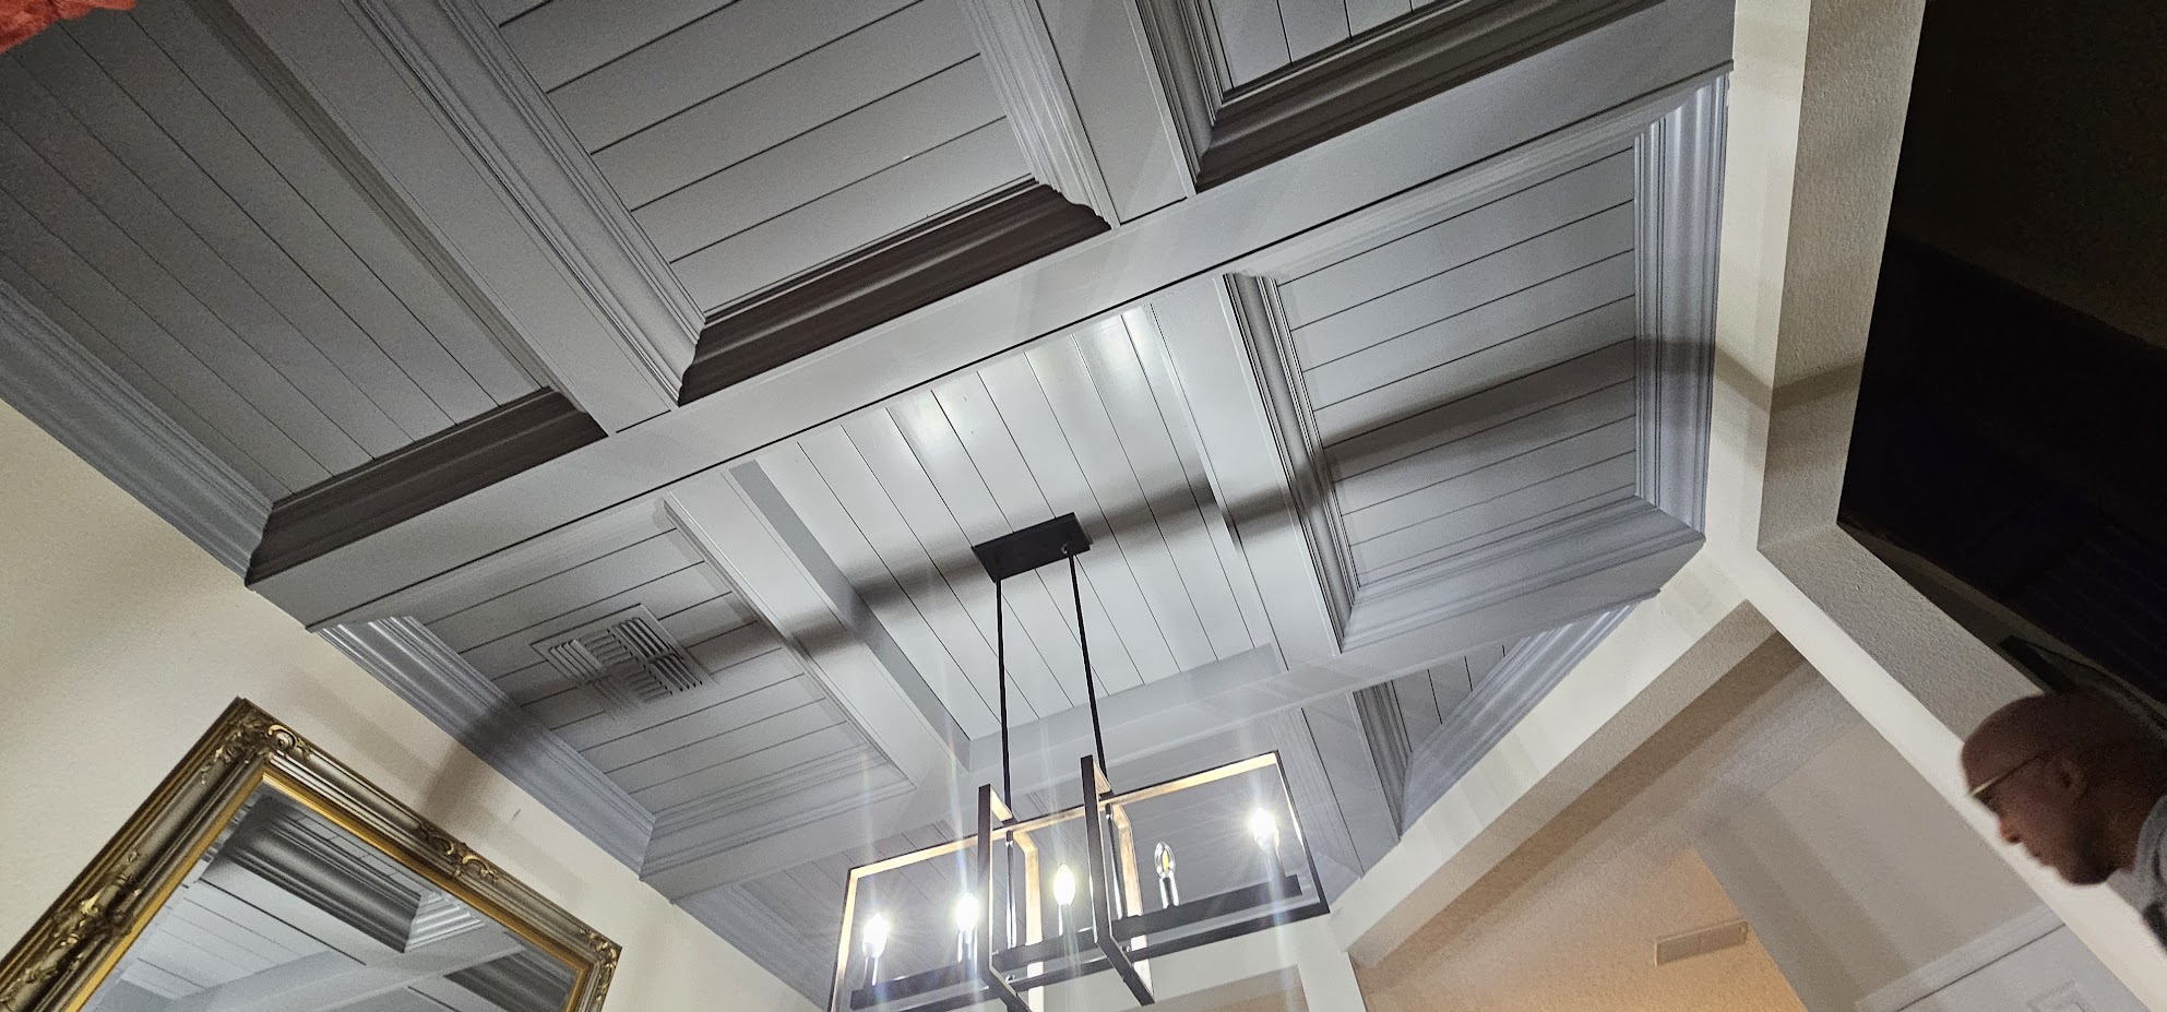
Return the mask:
{"type": "Polygon", "coordinates": [[[1107,223],[1042,182],[1018,182],[871,243],[724,310],[700,332],[678,403],[741,384],[940,301],[1107,223]]]}

